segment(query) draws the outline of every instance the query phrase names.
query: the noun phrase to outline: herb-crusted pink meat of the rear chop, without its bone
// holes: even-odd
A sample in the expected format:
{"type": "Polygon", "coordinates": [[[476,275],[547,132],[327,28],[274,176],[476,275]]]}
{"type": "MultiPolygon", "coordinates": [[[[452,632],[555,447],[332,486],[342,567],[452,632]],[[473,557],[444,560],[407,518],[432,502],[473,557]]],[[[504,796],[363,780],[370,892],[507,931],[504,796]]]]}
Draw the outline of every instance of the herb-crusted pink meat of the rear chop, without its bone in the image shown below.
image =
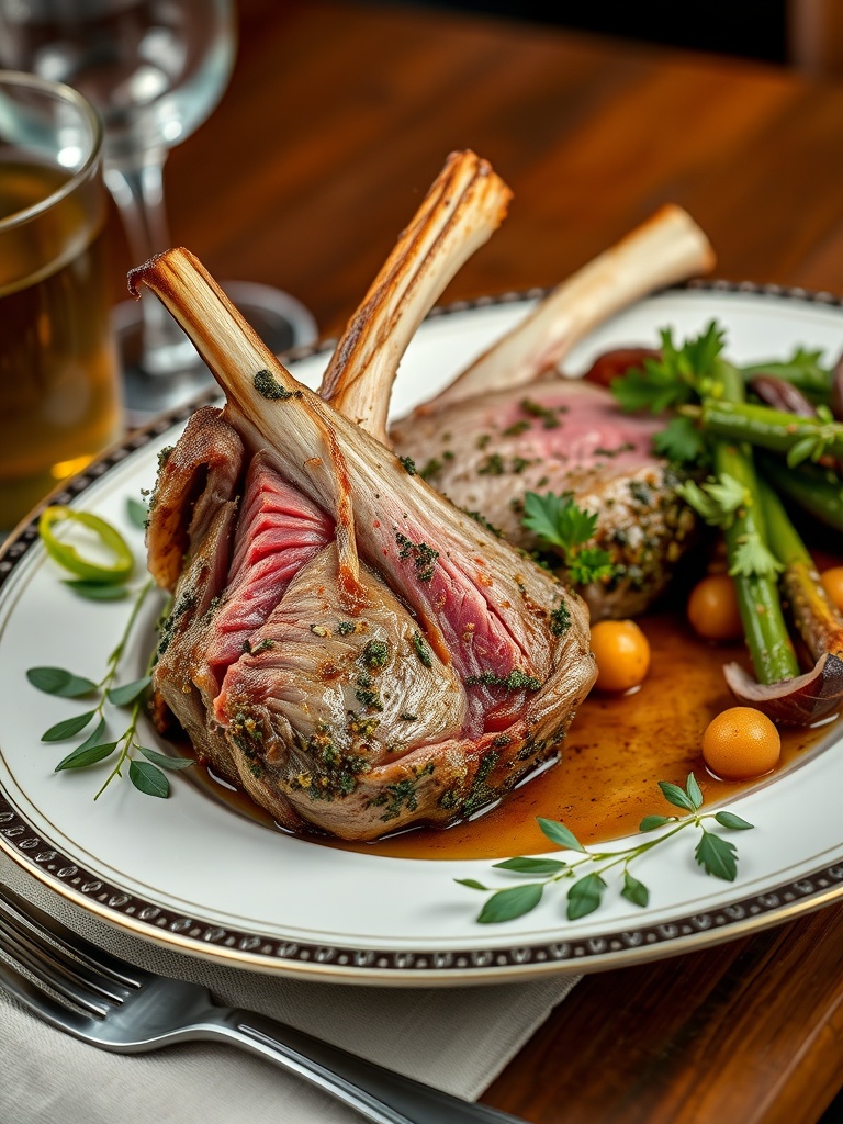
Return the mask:
{"type": "Polygon", "coordinates": [[[556,378],[463,399],[391,433],[435,488],[524,550],[541,547],[522,525],[526,492],[570,492],[597,513],[590,545],[609,553],[614,575],[580,592],[599,620],[643,613],[696,540],[678,477],[651,451],[662,425],[622,414],[602,387],[556,378]]]}

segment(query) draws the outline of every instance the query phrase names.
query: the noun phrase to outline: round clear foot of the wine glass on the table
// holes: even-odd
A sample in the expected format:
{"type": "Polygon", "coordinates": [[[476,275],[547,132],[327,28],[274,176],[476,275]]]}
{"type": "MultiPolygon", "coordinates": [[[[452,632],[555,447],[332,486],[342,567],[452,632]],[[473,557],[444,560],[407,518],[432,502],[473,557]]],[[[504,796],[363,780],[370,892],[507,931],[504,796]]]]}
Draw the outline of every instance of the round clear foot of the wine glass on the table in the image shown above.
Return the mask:
{"type": "MultiPolygon", "coordinates": [[[[227,281],[223,289],[273,354],[316,343],[318,326],[314,316],[289,293],[251,281],[227,281]]],[[[140,363],[140,301],[127,300],[118,305],[114,324],[123,370],[124,411],[129,428],[185,406],[217,386],[194,350],[194,362],[173,374],[151,374],[144,370],[140,363]]]]}

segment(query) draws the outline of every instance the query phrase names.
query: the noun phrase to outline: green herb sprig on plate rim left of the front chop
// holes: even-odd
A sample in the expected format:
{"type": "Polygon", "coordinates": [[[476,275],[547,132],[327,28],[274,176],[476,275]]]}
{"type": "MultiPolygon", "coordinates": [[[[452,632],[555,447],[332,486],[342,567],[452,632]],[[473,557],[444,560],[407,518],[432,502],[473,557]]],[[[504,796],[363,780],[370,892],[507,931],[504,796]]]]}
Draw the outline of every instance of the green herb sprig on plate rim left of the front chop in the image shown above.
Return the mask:
{"type": "MultiPolygon", "coordinates": [[[[129,500],[128,517],[135,526],[143,525],[144,513],[145,507],[143,505],[137,500],[129,500]]],[[[115,535],[117,534],[114,528],[107,527],[107,529],[114,532],[115,535]]],[[[55,554],[52,556],[61,564],[61,558],[56,558],[55,554]]],[[[130,570],[127,571],[127,577],[128,572],[130,570]]],[[[120,664],[126,653],[129,637],[137,624],[144,602],[153,589],[155,589],[155,582],[152,579],[147,579],[139,588],[134,590],[127,586],[125,580],[123,582],[115,582],[112,577],[106,577],[101,581],[98,581],[96,577],[87,578],[84,589],[80,589],[79,581],[66,582],[66,584],[73,589],[74,593],[93,600],[112,599],[111,597],[99,596],[98,590],[100,588],[103,590],[106,588],[118,589],[120,596],[128,596],[134,592],[134,600],[123,633],[108,656],[106,671],[101,679],[92,680],[66,668],[57,667],[29,668],[26,672],[26,677],[31,686],[46,695],[67,699],[89,699],[94,704],[90,709],[81,714],[62,719],[62,722],[51,726],[42,735],[43,742],[64,742],[93,726],[88,736],[62,758],[55,767],[55,772],[70,769],[87,769],[117,754],[114,768],[94,795],[94,800],[99,799],[116,777],[123,776],[126,762],[128,762],[129,780],[135,788],[147,796],[166,797],[170,795],[170,782],[164,772],[162,772],[162,769],[184,769],[194,762],[192,759],[171,758],[158,753],[142,745],[138,738],[138,723],[152,683],[152,670],[155,661],[154,649],[149,655],[145,672],[139,679],[124,683],[118,682],[120,664]],[[110,737],[109,708],[119,710],[127,707],[129,708],[128,722],[123,733],[117,737],[110,737]],[[143,754],[146,760],[135,760],[135,753],[143,754]]]]}

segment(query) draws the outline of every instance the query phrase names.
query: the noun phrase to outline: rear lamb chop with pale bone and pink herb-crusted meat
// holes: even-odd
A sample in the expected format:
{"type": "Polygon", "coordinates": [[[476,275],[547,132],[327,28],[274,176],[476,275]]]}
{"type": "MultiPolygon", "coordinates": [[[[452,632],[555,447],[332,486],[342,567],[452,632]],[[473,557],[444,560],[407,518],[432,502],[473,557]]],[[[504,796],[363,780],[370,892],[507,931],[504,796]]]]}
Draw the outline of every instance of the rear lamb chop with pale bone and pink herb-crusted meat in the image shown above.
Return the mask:
{"type": "MultiPolygon", "coordinates": [[[[396,452],[434,487],[524,550],[540,545],[522,523],[527,492],[571,493],[580,508],[596,513],[589,545],[608,553],[611,577],[580,590],[592,619],[649,608],[697,542],[698,524],[676,490],[679,478],[653,455],[652,436],[662,423],[622,414],[606,387],[561,378],[556,366],[625,305],[713,265],[708,239],[690,216],[662,207],[389,429],[396,452]]],[[[383,368],[369,372],[370,400],[381,411],[389,374],[383,368]],[[379,378],[381,386],[372,386],[379,378]]],[[[344,380],[334,377],[321,392],[342,400],[344,380]]]]}

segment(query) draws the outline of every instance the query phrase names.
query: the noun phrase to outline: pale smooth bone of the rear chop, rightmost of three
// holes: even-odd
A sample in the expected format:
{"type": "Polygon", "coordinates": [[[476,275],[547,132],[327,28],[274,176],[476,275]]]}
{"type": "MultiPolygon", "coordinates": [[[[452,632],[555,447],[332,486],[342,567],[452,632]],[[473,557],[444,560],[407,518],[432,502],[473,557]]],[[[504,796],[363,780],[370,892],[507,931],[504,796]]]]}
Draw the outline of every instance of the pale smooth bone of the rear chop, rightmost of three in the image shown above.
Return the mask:
{"type": "Polygon", "coordinates": [[[714,269],[708,238],[673,203],[559,284],[528,316],[492,344],[436,398],[429,413],[552,371],[588,332],[647,293],[714,269]]]}

